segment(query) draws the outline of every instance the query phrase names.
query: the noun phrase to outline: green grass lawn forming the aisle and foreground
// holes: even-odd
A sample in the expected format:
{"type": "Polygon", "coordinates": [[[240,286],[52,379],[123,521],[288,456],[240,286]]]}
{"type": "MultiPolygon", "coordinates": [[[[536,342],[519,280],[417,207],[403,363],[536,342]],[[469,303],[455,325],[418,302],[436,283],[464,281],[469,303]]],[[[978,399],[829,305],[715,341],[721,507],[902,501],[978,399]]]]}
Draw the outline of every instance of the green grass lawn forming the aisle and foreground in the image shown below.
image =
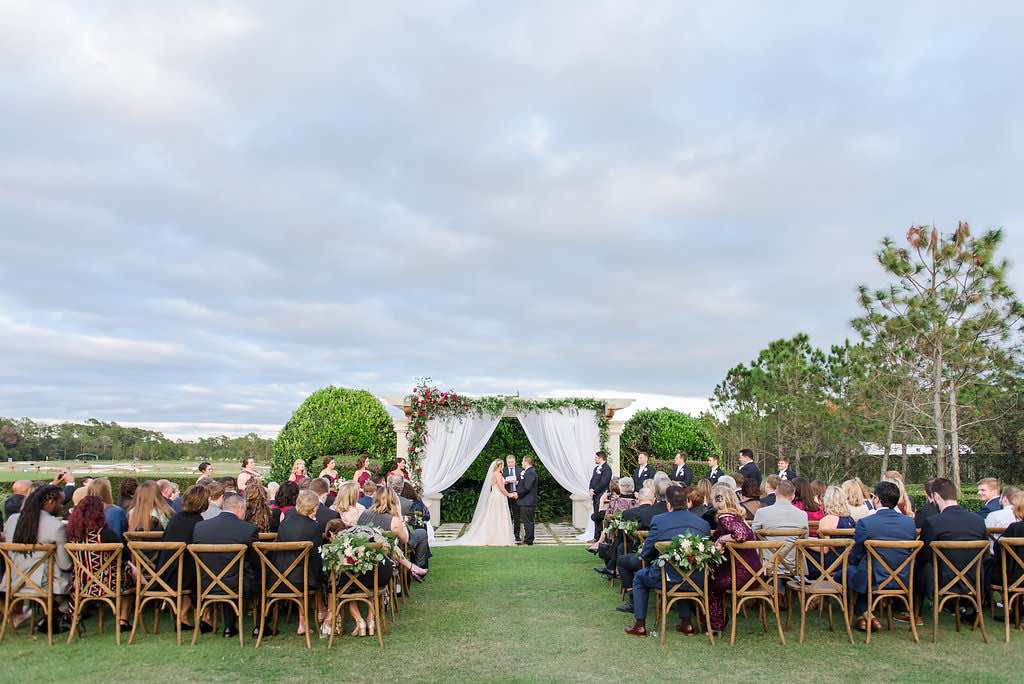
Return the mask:
{"type": "Polygon", "coordinates": [[[944,625],[939,642],[931,627],[914,644],[905,626],[872,638],[829,633],[816,616],[808,639],[788,646],[761,633],[757,618],[742,621],[737,643],[708,644],[702,636],[670,633],[656,639],[627,637],[630,617],[613,610],[617,594],[590,568],[581,547],[437,550],[431,576],[414,590],[380,651],[376,639],[344,638],[333,651],[313,642],[308,653],[294,636],[275,637],[259,650],[238,640],[204,635],[196,648],[176,646],[164,629],[133,646],[114,645],[94,622],[74,645],[23,633],[0,644],[0,680],[75,681],[1020,681],[1024,633],[1002,642],[1001,624],[989,621],[992,643],[944,625]]]}

